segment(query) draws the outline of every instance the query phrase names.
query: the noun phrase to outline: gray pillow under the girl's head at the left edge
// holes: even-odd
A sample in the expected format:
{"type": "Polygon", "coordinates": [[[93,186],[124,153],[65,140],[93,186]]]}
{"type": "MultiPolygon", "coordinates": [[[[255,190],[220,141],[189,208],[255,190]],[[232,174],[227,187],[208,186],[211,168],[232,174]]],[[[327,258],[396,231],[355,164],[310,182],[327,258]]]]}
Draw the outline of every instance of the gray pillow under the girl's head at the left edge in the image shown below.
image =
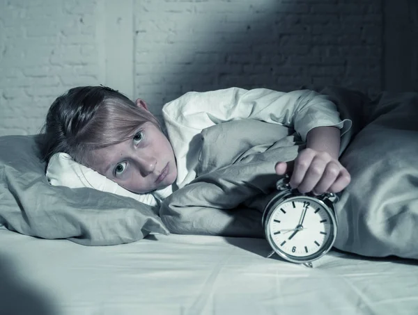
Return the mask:
{"type": "Polygon", "coordinates": [[[92,188],[51,186],[40,160],[42,136],[0,137],[0,227],[44,239],[115,245],[168,234],[152,209],[92,188]]]}

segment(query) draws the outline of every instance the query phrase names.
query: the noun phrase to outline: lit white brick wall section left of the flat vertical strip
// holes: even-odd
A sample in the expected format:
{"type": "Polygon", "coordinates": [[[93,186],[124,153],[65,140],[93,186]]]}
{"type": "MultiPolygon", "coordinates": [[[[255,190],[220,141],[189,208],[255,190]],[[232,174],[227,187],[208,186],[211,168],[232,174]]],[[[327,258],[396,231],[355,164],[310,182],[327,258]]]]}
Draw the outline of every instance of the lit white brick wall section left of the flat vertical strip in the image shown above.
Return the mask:
{"type": "Polygon", "coordinates": [[[38,132],[55,97],[100,83],[94,9],[91,0],[0,0],[1,136],[38,132]]]}

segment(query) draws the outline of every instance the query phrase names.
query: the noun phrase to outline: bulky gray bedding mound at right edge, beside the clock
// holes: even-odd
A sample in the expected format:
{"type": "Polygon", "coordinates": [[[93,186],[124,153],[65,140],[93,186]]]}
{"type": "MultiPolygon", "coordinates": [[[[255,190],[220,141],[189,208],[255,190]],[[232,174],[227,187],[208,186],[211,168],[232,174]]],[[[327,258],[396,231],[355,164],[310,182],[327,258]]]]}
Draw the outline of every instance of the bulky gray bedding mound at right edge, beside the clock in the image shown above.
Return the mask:
{"type": "Polygon", "coordinates": [[[341,156],[352,177],[336,211],[335,247],[418,259],[418,94],[383,93],[341,156]]]}

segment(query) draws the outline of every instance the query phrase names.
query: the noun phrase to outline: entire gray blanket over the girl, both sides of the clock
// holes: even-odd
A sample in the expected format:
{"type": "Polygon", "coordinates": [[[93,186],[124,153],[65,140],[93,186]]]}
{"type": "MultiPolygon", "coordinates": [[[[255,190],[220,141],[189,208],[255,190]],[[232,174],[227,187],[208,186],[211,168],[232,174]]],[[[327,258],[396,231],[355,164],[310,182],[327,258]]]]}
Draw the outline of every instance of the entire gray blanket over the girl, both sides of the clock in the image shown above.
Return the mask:
{"type": "MultiPolygon", "coordinates": [[[[336,204],[336,248],[418,259],[417,95],[384,94],[372,102],[341,88],[324,92],[353,121],[341,139],[341,163],[352,181],[336,204]]],[[[215,125],[201,137],[198,177],[164,200],[162,222],[178,234],[263,237],[262,212],[279,179],[274,165],[295,159],[304,143],[291,129],[249,120],[215,125]]]]}

